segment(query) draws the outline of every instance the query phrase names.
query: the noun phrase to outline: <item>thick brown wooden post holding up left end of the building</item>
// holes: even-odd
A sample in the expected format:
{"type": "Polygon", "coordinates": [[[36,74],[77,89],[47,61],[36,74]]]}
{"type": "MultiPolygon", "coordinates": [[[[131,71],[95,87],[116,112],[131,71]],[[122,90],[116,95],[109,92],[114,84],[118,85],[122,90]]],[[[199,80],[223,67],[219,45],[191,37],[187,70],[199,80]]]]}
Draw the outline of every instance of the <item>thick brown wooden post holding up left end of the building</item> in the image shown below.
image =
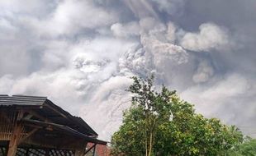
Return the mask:
{"type": "Polygon", "coordinates": [[[9,141],[9,147],[7,156],[15,156],[17,152],[17,145],[21,139],[22,127],[20,123],[14,124],[11,140],[9,141]]]}

